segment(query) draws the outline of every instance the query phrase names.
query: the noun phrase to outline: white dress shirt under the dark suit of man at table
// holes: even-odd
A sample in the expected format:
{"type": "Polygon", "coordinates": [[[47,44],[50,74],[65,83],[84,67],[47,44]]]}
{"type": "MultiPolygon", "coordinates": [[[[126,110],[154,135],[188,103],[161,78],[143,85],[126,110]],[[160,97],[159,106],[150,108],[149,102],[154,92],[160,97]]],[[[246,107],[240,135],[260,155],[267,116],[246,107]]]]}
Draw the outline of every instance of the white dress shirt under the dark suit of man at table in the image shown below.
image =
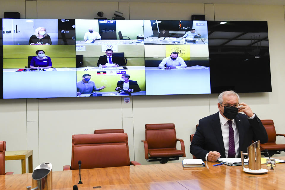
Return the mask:
{"type": "MultiPolygon", "coordinates": [[[[248,119],[253,119],[255,114],[251,116],[248,119]]],[[[224,116],[219,113],[219,118],[220,118],[220,124],[221,124],[221,129],[222,129],[222,135],[223,135],[223,141],[224,141],[224,147],[225,147],[225,154],[226,158],[228,157],[229,153],[229,124],[227,123],[229,120],[224,118],[224,116]]],[[[234,136],[235,136],[235,158],[238,157],[238,148],[240,145],[240,136],[238,134],[238,128],[237,128],[237,123],[235,119],[232,119],[232,129],[234,130],[234,136]]],[[[208,153],[209,154],[209,153],[208,153]]],[[[206,161],[208,161],[208,154],[206,154],[206,161]]]]}

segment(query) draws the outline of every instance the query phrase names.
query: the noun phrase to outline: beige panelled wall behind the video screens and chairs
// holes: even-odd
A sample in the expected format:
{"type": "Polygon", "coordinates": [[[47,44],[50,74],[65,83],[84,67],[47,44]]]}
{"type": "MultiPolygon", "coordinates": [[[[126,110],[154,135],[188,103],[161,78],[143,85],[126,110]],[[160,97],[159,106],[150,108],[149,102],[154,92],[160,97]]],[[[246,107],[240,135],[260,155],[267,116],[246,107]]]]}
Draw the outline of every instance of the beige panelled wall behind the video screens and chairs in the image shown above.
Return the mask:
{"type": "MultiPolygon", "coordinates": [[[[119,7],[127,10],[126,4],[119,6],[118,2],[37,1],[37,17],[92,19],[98,11],[103,11],[104,16],[110,19],[119,7]]],[[[20,12],[21,18],[25,18],[25,1],[0,1],[0,11],[20,12]]],[[[240,97],[241,102],[250,105],[259,118],[273,119],[276,131],[285,133],[284,6],[129,3],[130,19],[189,20],[192,14],[205,14],[207,18],[215,20],[268,21],[273,92],[245,93],[240,97]]],[[[246,77],[243,71],[235,76],[237,80],[246,77]]],[[[248,81],[252,85],[254,82],[248,81]]],[[[71,164],[72,134],[93,133],[94,129],[123,128],[129,136],[130,159],[153,164],[157,162],[149,163],[144,159],[141,143],[145,139],[144,125],[174,123],[177,137],[184,140],[186,158],[190,159],[190,134],[194,134],[200,118],[218,111],[217,96],[134,96],[130,104],[125,104],[123,97],[5,99],[0,100],[0,139],[7,141],[7,151],[32,149],[34,167],[42,162],[51,162],[53,170],[58,171],[62,170],[63,165],[71,164]]],[[[278,137],[277,142],[285,143],[285,140],[278,137]]],[[[6,161],[6,171],[20,173],[20,164],[20,161],[6,161]]]]}

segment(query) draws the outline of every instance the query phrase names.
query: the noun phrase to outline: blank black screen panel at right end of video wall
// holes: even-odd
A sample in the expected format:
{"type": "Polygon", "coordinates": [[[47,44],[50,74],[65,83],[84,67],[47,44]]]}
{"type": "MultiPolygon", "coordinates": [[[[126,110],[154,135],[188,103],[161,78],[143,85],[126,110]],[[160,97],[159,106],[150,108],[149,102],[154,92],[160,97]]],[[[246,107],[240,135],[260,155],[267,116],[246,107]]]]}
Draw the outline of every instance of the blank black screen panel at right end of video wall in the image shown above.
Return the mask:
{"type": "Polygon", "coordinates": [[[267,22],[208,21],[211,93],[271,92],[267,22]]]}

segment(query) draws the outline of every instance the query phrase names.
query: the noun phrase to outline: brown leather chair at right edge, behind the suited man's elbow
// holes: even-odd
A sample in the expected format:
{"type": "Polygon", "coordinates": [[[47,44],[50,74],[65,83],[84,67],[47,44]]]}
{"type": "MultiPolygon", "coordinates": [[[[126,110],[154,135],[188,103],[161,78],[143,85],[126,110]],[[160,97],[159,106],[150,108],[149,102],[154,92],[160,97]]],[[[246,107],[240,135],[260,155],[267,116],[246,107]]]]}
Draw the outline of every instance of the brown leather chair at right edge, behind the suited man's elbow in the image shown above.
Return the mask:
{"type": "Polygon", "coordinates": [[[268,135],[268,142],[264,144],[260,144],[261,153],[264,156],[267,156],[267,154],[265,153],[265,149],[267,149],[269,155],[273,156],[274,154],[280,154],[282,151],[285,151],[285,144],[276,144],[276,136],[285,137],[285,134],[276,134],[273,120],[261,119],[261,122],[263,126],[265,127],[267,135],[268,135]]]}

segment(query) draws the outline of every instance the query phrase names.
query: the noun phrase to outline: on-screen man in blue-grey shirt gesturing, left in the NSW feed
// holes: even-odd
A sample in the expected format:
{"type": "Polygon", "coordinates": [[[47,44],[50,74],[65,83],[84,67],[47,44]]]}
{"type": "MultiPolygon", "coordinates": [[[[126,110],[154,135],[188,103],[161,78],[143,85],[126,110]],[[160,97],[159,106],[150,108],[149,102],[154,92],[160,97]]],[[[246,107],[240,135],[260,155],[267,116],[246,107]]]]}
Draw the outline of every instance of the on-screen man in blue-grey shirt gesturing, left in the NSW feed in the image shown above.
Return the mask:
{"type": "Polygon", "coordinates": [[[77,89],[77,96],[81,94],[92,94],[93,91],[100,91],[104,89],[106,86],[101,86],[100,88],[97,88],[95,86],[94,81],[90,80],[91,75],[89,74],[84,74],[82,76],[82,80],[78,81],[76,83],[76,89],[77,89]]]}

